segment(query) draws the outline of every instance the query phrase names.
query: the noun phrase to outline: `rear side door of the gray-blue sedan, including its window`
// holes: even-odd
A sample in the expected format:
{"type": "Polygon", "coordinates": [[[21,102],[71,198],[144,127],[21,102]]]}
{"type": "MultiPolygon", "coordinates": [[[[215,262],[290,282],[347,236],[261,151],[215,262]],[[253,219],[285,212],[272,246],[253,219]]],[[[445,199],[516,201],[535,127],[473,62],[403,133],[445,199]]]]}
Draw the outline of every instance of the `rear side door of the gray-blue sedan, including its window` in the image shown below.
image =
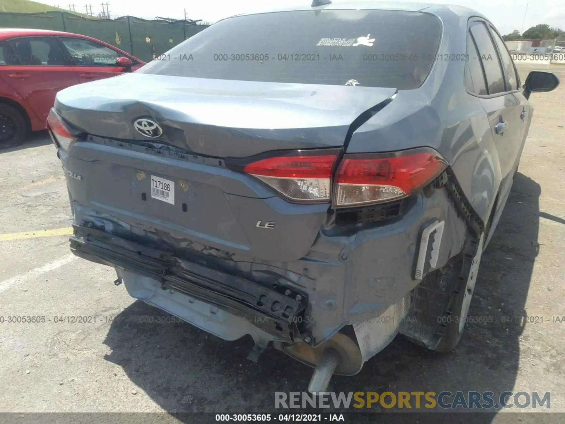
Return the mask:
{"type": "Polygon", "coordinates": [[[472,21],[470,33],[479,57],[470,57],[469,60],[478,60],[486,80],[486,94],[479,97],[493,132],[501,168],[500,194],[503,197],[510,189],[524,131],[523,121],[520,119],[523,106],[515,96],[518,81],[516,73],[505,75],[505,68],[487,24],[482,20],[472,21]]]}

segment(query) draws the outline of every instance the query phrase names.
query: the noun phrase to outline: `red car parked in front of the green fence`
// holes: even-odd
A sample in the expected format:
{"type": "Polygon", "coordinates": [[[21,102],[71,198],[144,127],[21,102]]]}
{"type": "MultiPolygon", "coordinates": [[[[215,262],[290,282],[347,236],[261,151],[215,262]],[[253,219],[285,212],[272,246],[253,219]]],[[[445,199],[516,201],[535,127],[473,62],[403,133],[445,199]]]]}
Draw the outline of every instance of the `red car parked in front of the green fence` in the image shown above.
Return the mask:
{"type": "Polygon", "coordinates": [[[145,64],[95,38],[45,29],[2,28],[0,51],[0,149],[45,129],[59,90],[145,64]]]}

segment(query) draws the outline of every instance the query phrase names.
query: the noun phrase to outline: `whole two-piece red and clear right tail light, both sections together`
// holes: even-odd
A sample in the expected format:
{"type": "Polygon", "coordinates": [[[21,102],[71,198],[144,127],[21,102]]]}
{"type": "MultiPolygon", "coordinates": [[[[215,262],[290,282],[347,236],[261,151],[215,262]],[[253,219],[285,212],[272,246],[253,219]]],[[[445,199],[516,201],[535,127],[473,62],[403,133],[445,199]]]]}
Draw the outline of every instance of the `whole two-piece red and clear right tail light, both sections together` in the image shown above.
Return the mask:
{"type": "Polygon", "coordinates": [[[447,167],[445,159],[428,148],[346,154],[332,181],[338,152],[322,152],[305,150],[260,159],[245,165],[243,171],[290,200],[321,202],[333,198],[333,207],[350,207],[409,196],[431,183],[447,167]]]}

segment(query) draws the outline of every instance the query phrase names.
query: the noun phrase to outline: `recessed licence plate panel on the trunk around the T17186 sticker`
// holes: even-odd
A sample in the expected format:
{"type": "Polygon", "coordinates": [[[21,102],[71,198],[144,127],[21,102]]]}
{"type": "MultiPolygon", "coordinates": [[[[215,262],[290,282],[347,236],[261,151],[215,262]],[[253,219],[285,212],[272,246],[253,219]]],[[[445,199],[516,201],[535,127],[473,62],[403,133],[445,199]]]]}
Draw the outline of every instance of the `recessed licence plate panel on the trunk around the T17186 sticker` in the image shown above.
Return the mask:
{"type": "Polygon", "coordinates": [[[189,172],[179,177],[171,175],[175,171],[172,167],[173,172],[166,174],[146,166],[129,167],[103,161],[84,166],[89,167],[88,172],[84,171],[89,179],[85,179],[88,189],[82,195],[86,204],[101,213],[149,232],[166,232],[177,239],[205,245],[216,243],[228,251],[249,246],[221,189],[190,179],[189,172]],[[161,200],[151,196],[152,185],[164,187],[155,180],[170,184],[169,202],[166,197],[161,200]]]}

